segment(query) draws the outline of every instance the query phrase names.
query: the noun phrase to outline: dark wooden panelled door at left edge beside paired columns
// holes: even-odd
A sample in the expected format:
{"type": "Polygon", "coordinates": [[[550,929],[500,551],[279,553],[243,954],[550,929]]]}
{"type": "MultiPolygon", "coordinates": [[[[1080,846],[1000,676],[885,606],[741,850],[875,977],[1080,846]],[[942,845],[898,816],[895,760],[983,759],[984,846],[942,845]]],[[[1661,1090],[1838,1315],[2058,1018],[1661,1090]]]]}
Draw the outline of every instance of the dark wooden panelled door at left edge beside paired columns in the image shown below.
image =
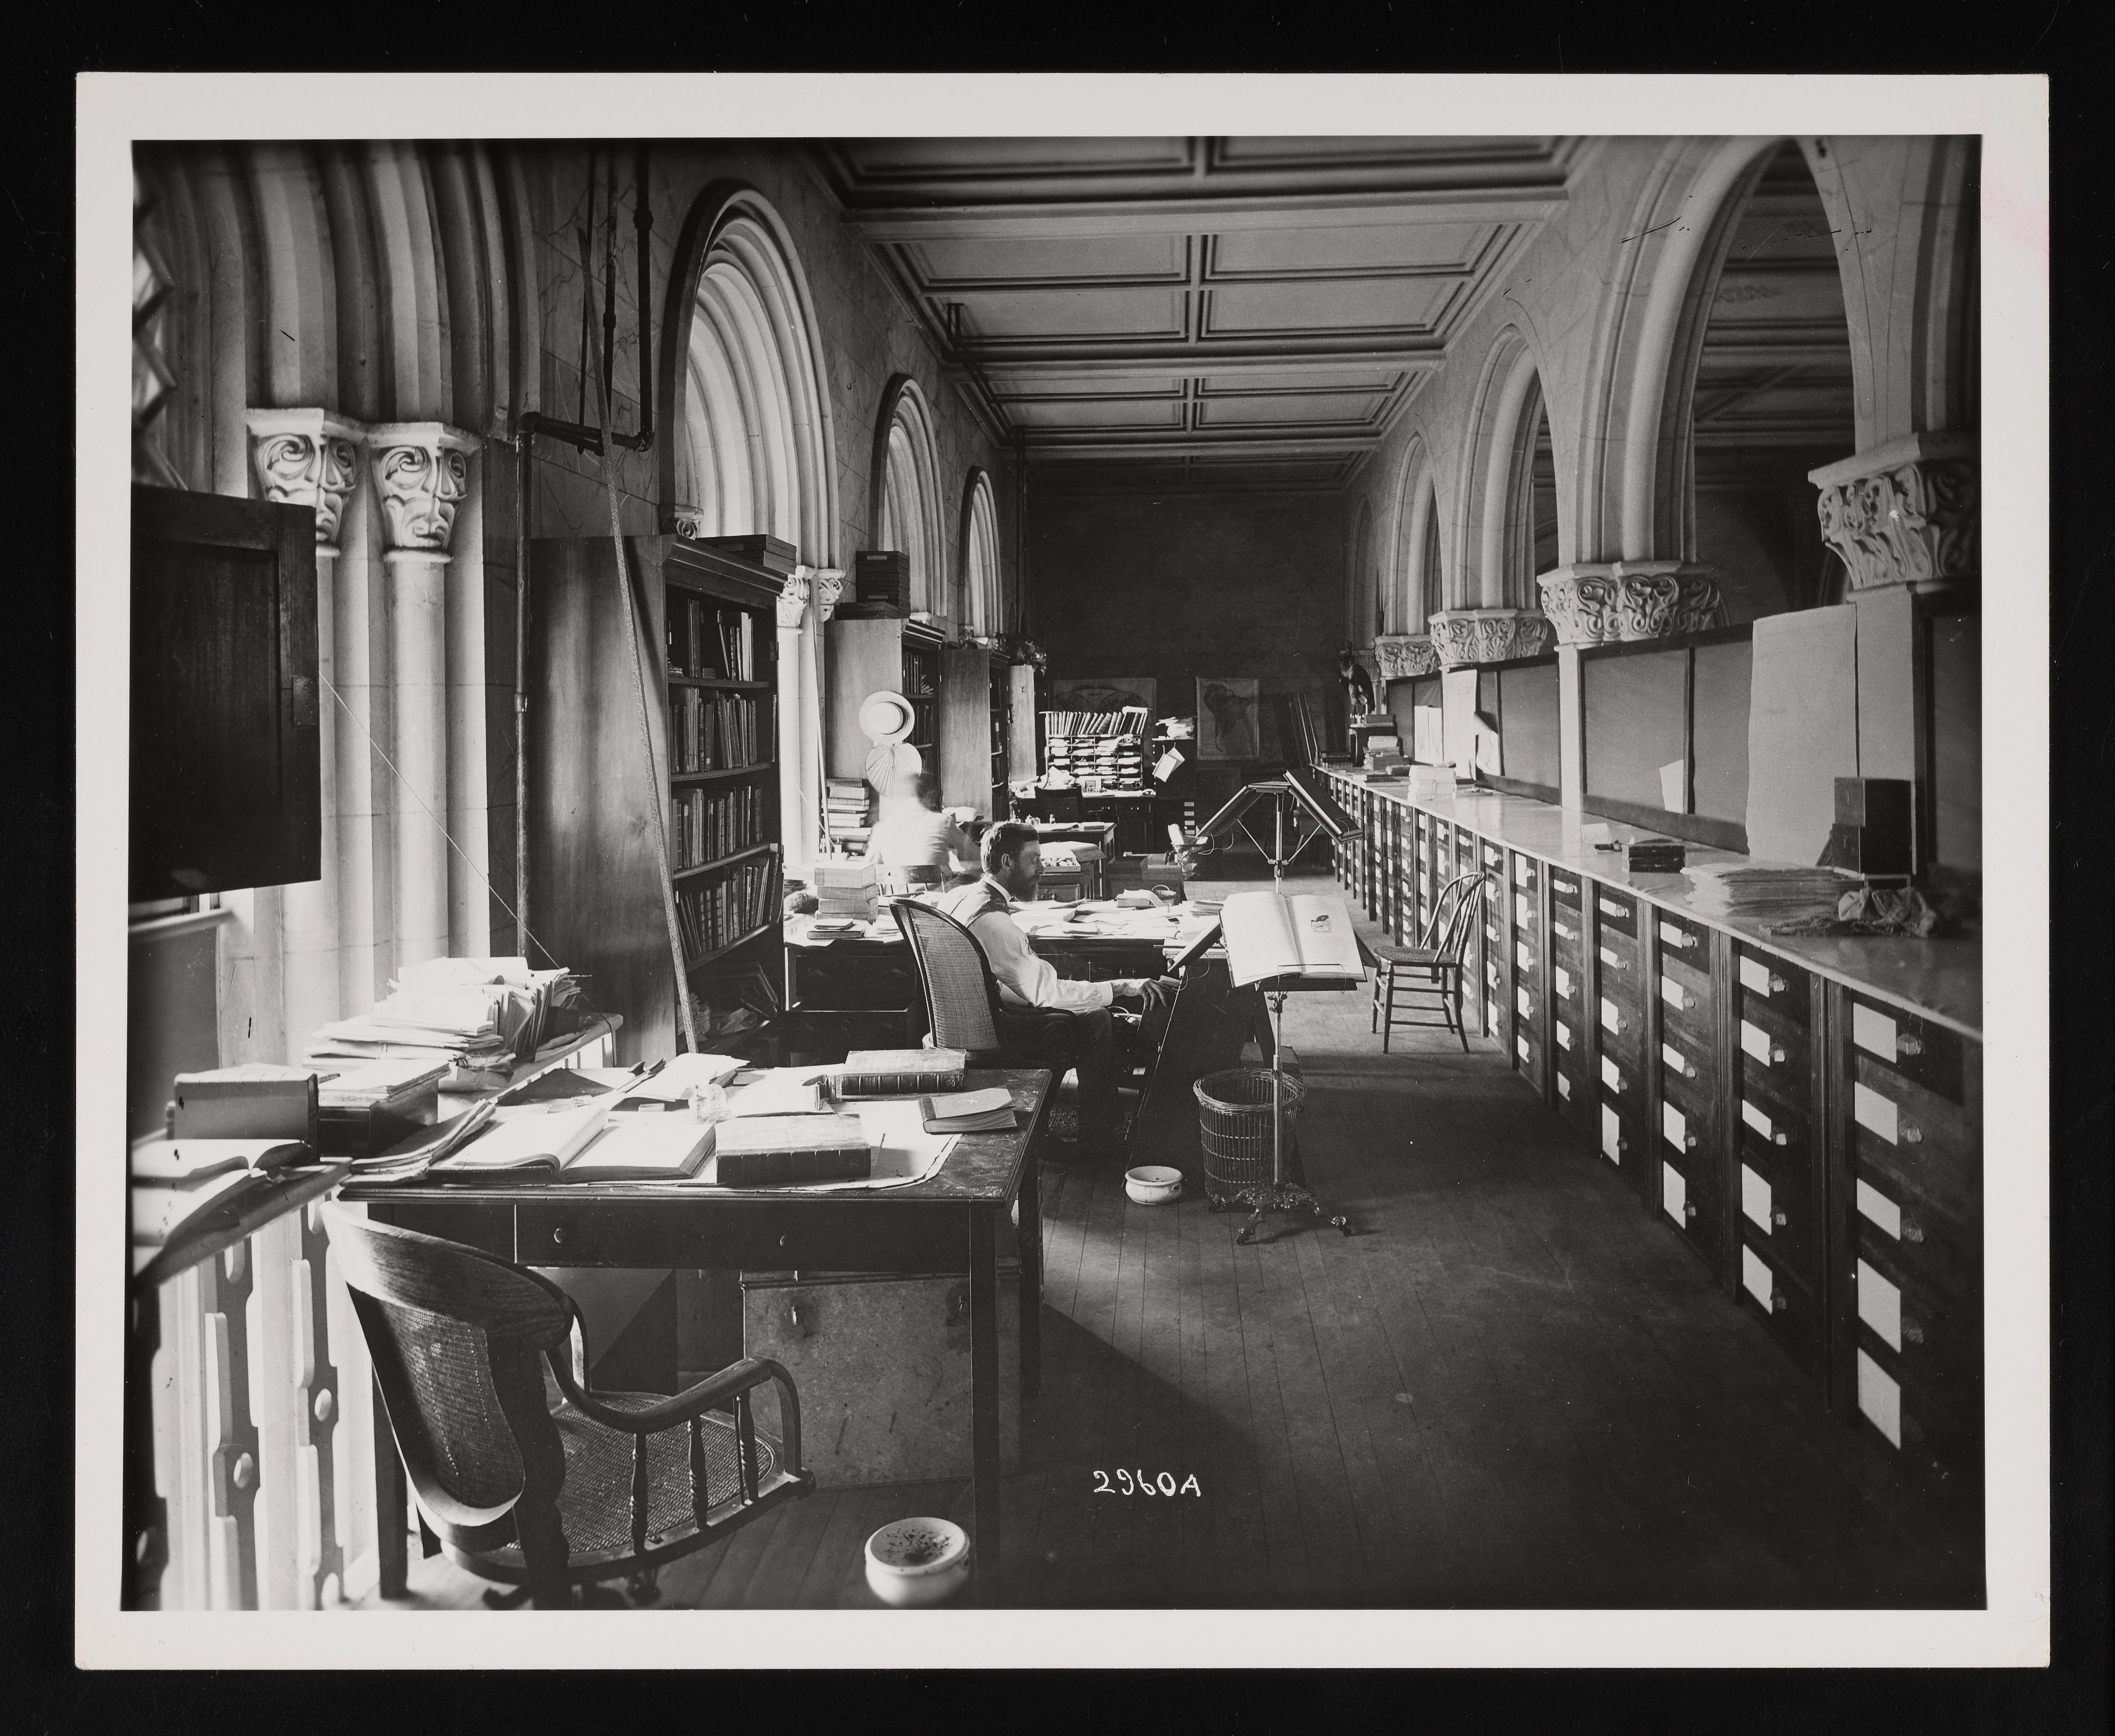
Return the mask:
{"type": "Polygon", "coordinates": [[[315,512],[146,486],[131,512],[131,897],[315,880],[315,512]]]}

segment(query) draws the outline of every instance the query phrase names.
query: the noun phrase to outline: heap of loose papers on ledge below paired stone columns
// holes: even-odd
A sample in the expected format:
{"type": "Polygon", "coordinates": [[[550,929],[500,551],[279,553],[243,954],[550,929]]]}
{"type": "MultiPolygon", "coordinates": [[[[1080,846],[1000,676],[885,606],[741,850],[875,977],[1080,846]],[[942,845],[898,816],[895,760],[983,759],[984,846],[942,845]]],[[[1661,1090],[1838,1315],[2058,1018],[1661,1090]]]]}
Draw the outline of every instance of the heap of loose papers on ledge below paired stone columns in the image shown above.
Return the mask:
{"type": "Polygon", "coordinates": [[[446,1089],[484,1089],[577,1017],[573,975],[531,971],[527,958],[429,958],[389,990],[372,1011],[317,1030],[309,1061],[431,1061],[448,1068],[446,1089]]]}

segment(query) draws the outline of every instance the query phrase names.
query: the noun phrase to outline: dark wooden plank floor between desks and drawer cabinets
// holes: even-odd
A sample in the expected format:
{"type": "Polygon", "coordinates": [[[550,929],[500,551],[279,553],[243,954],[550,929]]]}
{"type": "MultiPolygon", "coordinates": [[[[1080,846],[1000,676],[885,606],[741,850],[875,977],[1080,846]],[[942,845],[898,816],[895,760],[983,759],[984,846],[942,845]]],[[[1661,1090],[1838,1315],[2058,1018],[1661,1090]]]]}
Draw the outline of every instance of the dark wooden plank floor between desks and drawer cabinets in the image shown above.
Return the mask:
{"type": "MultiPolygon", "coordinates": [[[[1383,1057],[1360,994],[1290,998],[1286,1042],[1311,1087],[1309,1182],[1356,1233],[1275,1218],[1239,1248],[1242,1220],[1208,1214],[1195,1180],[1180,1205],[1140,1207],[1119,1171],[1060,1155],[1043,1396],[981,1601],[1982,1601],[1980,1554],[1493,1042],[1398,1034],[1383,1057]],[[1119,1470],[1199,1493],[1125,1495],[1119,1470]]],[[[662,1607],[873,1605],[865,1537],[909,1514],[967,1522],[967,1495],[812,1495],[666,1569],[662,1607]]],[[[412,1590],[429,1607],[478,1594],[442,1558],[415,1558],[412,1590]]]]}

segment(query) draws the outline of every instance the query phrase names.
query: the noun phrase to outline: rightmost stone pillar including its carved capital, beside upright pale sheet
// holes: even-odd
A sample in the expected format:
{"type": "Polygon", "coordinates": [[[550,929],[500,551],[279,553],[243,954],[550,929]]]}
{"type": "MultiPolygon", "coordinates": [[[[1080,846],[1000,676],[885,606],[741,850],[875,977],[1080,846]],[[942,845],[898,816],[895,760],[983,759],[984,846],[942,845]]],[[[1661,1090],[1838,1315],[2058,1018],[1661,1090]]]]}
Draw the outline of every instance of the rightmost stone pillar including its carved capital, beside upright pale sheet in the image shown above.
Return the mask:
{"type": "Polygon", "coordinates": [[[1821,541],[1842,558],[1857,607],[1859,774],[1916,778],[1929,727],[1916,702],[1916,598],[1980,584],[1980,440],[1910,433],[1808,480],[1821,491],[1821,541]]]}

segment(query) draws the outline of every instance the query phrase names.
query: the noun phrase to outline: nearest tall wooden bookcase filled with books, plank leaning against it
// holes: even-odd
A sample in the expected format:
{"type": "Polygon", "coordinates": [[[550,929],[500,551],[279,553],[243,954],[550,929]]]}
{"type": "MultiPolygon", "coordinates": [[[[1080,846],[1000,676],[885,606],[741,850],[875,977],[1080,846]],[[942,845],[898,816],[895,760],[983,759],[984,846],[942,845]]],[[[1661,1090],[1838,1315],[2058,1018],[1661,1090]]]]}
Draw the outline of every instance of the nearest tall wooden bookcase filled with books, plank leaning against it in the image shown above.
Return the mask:
{"type": "Polygon", "coordinates": [[[529,928],[550,954],[531,962],[584,973],[594,1004],[624,1015],[628,1064],[675,1053],[681,1032],[654,808],[700,1000],[751,964],[778,981],[783,844],[778,575],[685,537],[628,537],[626,562],[651,774],[609,539],[531,543],[529,928]]]}

